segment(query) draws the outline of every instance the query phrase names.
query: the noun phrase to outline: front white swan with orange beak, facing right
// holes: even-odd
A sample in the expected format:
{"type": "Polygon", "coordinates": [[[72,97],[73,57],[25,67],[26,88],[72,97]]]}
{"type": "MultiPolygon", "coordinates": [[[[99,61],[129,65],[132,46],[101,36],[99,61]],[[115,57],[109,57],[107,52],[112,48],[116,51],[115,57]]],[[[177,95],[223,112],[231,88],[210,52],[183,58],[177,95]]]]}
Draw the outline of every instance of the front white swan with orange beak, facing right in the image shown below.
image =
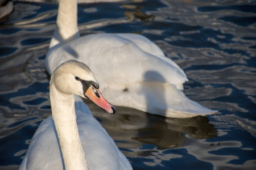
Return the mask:
{"type": "Polygon", "coordinates": [[[66,170],[132,169],[81,100],[88,97],[106,112],[114,113],[115,108],[98,87],[84,63],[71,60],[57,67],[50,81],[52,117],[36,130],[19,169],[64,169],[63,164],[66,170]]]}

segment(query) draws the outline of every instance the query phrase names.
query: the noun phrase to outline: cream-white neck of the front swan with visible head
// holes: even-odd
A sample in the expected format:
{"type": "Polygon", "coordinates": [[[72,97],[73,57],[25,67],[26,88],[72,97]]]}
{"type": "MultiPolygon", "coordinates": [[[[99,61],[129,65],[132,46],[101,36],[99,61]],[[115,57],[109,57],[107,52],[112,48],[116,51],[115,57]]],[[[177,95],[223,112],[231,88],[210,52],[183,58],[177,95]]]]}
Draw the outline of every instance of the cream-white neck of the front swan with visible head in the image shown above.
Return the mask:
{"type": "Polygon", "coordinates": [[[62,94],[50,82],[52,118],[56,127],[66,170],[86,169],[88,164],[79,137],[75,113],[75,95],[62,94]]]}

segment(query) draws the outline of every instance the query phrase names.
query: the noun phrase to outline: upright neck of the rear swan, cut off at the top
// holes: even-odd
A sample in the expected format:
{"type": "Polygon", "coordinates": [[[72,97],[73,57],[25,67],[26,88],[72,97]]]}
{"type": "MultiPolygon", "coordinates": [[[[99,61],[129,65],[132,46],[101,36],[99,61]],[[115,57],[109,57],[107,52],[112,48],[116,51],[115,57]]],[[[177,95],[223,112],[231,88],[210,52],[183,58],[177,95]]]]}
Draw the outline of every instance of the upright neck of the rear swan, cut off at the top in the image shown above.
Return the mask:
{"type": "Polygon", "coordinates": [[[62,45],[78,37],[80,34],[77,26],[77,1],[60,0],[56,28],[49,47],[62,45]]]}

